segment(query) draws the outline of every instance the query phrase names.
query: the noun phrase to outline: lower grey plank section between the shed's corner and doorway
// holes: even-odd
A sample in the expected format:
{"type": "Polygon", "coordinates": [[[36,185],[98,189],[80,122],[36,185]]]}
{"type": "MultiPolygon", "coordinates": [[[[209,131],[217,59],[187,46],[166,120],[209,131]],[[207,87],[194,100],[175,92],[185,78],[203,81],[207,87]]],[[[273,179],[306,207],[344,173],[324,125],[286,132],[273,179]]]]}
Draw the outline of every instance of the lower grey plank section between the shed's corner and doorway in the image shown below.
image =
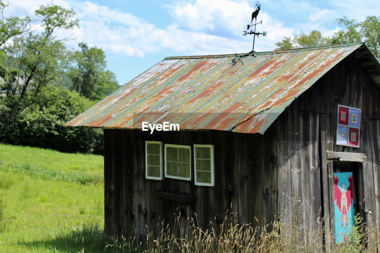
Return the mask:
{"type": "Polygon", "coordinates": [[[278,207],[283,230],[294,240],[317,248],[322,243],[319,114],[287,109],[277,124],[278,207]]]}

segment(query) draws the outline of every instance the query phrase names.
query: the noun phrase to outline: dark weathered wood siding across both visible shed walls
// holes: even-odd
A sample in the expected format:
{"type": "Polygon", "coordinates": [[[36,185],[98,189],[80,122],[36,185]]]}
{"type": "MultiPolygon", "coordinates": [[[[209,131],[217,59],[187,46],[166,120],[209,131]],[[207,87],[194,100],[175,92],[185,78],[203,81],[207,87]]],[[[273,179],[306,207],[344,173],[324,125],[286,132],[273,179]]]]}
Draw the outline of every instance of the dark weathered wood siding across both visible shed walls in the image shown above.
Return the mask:
{"type": "Polygon", "coordinates": [[[334,242],[320,236],[334,235],[334,168],[327,151],[356,152],[367,155],[358,173],[359,211],[374,250],[380,241],[379,101],[379,88],[353,53],[295,99],[264,135],[105,129],[105,232],[137,233],[142,239],[147,228],[157,232],[160,220],[176,229],[179,212],[182,227],[189,216],[203,229],[210,221],[217,229],[227,210],[237,213],[239,223],[253,225],[255,217],[263,224],[281,214],[284,223],[303,225],[299,240],[323,243],[328,250],[334,242]],[[338,104],[361,108],[360,148],[335,145],[338,104]],[[215,186],[194,184],[193,161],[191,182],[145,179],[146,140],[189,145],[192,154],[193,144],[214,145],[215,186]],[[155,197],[160,189],[195,194],[196,201],[190,206],[161,201],[155,197]]]}

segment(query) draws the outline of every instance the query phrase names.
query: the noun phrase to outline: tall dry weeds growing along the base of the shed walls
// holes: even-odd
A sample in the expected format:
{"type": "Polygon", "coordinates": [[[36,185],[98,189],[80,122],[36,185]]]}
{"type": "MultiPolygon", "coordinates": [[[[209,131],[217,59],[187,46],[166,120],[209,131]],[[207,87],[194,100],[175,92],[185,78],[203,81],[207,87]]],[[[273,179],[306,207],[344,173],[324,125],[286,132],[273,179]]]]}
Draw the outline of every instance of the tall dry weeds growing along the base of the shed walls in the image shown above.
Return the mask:
{"type": "MultiPolygon", "coordinates": [[[[144,236],[113,237],[114,242],[106,248],[116,248],[120,252],[365,252],[364,245],[368,242],[368,232],[364,232],[361,219],[357,216],[356,226],[348,239],[339,245],[334,236],[326,231],[324,220],[305,223],[305,210],[302,204],[293,205],[293,217],[290,223],[276,220],[266,224],[256,218],[255,224],[239,224],[237,214],[226,212],[219,225],[211,222],[210,229],[197,226],[197,216],[176,216],[173,229],[166,225],[165,220],[157,224],[155,229],[146,227],[144,236]]],[[[314,215],[314,214],[313,214],[314,215]]],[[[137,230],[136,230],[136,234],[137,230]]],[[[375,240],[375,238],[372,238],[375,240]]]]}

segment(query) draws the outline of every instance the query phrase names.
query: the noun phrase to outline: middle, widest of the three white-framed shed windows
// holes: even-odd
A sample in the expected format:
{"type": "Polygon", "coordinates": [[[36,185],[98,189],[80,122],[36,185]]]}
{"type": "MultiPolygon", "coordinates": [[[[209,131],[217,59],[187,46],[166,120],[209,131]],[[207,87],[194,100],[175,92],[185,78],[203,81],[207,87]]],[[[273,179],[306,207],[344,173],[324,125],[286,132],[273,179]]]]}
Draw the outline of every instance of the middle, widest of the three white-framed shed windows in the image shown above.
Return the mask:
{"type": "Polygon", "coordinates": [[[191,181],[191,146],[165,144],[165,178],[191,181]]]}

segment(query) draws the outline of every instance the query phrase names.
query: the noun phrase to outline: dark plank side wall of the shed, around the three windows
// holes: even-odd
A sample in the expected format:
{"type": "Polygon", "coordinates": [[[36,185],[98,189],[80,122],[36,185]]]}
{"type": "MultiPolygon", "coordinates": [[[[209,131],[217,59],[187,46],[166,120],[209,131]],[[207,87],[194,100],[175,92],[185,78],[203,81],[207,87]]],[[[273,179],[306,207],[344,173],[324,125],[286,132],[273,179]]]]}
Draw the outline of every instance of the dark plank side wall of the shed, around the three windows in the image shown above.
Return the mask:
{"type": "Polygon", "coordinates": [[[180,236],[187,228],[187,217],[202,229],[214,226],[219,231],[227,210],[236,215],[233,218],[239,224],[273,222],[277,219],[275,131],[275,126],[266,135],[105,129],[105,232],[133,233],[145,241],[147,233],[160,231],[159,223],[164,220],[180,236]],[[214,145],[215,186],[194,184],[193,158],[192,181],[145,179],[146,140],[190,145],[192,157],[193,144],[214,145]],[[155,197],[160,189],[195,194],[196,201],[190,206],[161,201],[155,197]]]}

